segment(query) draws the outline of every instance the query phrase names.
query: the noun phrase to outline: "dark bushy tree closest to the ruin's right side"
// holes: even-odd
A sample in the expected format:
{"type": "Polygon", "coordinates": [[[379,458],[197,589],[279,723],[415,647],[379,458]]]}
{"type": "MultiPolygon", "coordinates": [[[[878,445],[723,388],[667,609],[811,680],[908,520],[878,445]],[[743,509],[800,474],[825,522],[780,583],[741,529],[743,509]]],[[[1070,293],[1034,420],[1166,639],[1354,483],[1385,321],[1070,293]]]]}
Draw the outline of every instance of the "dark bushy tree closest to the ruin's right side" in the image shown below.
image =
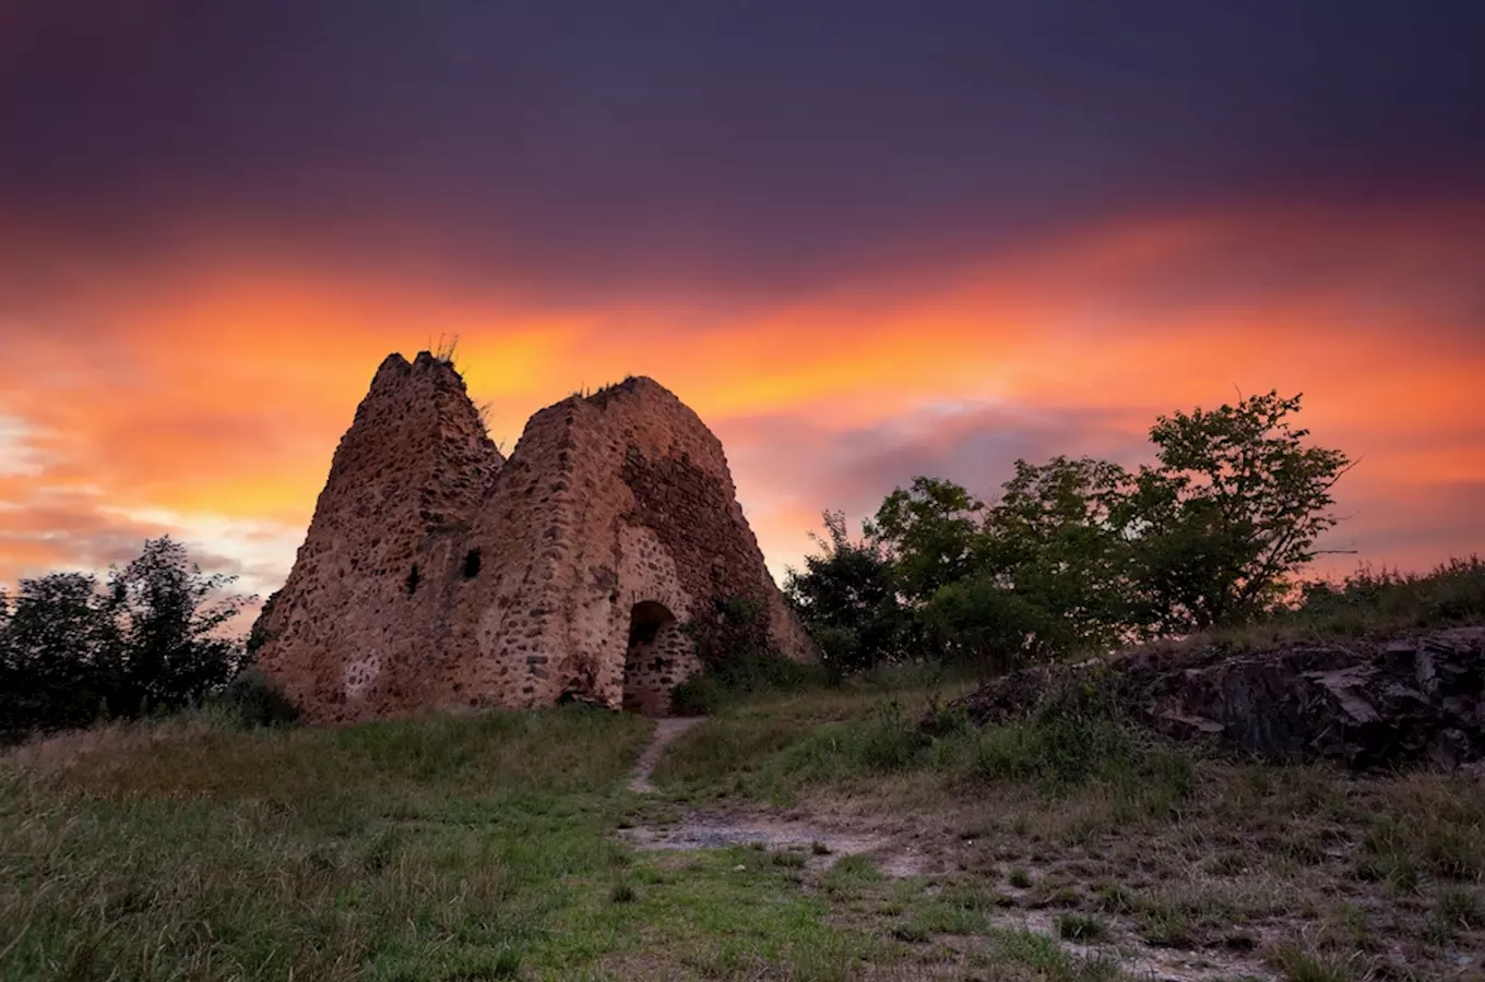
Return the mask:
{"type": "Polygon", "coordinates": [[[826,512],[826,536],[812,534],[820,555],[790,570],[784,592],[824,656],[839,672],[903,657],[913,619],[897,596],[892,562],[870,540],[852,541],[845,513],[826,512]]]}

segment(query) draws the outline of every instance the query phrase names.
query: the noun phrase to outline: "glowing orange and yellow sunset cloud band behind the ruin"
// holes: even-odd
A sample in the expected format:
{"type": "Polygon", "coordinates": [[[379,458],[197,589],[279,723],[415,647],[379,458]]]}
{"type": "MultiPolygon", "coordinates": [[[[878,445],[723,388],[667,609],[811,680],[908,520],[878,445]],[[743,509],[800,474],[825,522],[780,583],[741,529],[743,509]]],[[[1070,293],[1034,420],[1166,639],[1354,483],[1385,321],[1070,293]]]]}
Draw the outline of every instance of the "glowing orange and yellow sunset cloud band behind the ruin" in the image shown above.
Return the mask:
{"type": "Polygon", "coordinates": [[[1485,550],[1460,506],[1485,487],[1482,228],[1479,205],[1127,220],[731,312],[533,307],[209,249],[227,258],[91,266],[0,297],[0,581],[175,528],[270,589],[374,366],[451,335],[506,448],[582,386],[674,389],[728,445],[775,571],[820,509],[866,510],[915,469],[989,494],[1014,455],[1135,463],[1155,414],[1271,387],[1362,458],[1342,544],[1485,550]]]}

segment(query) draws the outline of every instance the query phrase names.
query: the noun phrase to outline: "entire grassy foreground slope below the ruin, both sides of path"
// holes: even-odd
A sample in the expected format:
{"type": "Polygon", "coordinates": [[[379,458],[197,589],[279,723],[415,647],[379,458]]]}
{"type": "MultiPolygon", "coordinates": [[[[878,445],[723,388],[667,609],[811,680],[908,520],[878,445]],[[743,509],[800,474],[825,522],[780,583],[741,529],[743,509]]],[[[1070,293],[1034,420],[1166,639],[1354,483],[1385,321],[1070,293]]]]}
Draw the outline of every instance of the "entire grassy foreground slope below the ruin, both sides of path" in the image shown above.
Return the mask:
{"type": "Polygon", "coordinates": [[[1478,978],[1485,786],[924,734],[950,690],[754,697],[656,795],[652,724],[579,708],[53,743],[0,764],[0,978],[1478,978]],[[820,841],[625,838],[768,822],[820,841]]]}

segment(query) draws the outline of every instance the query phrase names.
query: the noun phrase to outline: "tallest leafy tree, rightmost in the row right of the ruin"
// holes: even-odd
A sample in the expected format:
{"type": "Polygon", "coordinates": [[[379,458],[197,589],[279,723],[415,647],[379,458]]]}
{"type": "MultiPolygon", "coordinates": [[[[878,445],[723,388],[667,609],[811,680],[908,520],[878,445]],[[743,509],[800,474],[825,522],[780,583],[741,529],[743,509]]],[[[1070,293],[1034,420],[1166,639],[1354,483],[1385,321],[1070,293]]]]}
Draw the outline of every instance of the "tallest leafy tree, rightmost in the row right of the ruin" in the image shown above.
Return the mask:
{"type": "Polygon", "coordinates": [[[1351,461],[1305,445],[1310,430],[1289,420],[1299,402],[1270,392],[1160,417],[1149,430],[1160,463],[1140,469],[1120,518],[1152,629],[1253,619],[1283,598],[1339,521],[1331,490],[1351,461]]]}

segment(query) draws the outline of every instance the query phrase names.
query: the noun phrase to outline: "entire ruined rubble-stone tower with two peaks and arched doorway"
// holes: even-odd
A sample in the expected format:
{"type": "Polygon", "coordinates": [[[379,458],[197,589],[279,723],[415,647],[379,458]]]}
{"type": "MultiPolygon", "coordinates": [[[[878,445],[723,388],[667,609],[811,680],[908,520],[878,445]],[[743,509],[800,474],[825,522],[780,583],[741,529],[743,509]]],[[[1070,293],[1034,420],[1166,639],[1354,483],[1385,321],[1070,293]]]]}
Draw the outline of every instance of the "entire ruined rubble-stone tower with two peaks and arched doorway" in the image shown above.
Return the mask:
{"type": "Polygon", "coordinates": [[[722,444],[628,378],[530,418],[505,460],[459,372],[389,356],[255,629],[313,722],[564,699],[664,715],[685,626],[744,599],[814,648],[763,565],[722,444]]]}

